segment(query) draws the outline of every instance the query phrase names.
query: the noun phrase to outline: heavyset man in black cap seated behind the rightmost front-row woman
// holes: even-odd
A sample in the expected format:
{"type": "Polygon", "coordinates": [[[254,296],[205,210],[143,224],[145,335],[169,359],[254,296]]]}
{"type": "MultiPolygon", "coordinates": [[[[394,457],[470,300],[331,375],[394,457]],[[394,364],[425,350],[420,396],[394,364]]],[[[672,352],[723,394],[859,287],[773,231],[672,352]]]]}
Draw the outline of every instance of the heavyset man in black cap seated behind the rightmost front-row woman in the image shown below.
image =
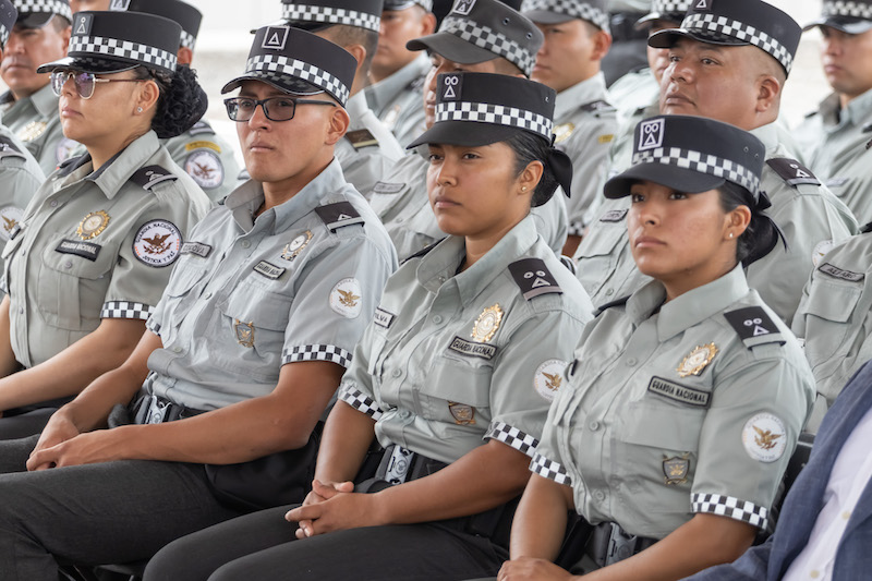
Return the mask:
{"type": "MultiPolygon", "coordinates": [[[[800,34],[799,25],[775,7],[761,0],[732,0],[693,3],[680,28],[650,39],[655,48],[668,48],[671,61],[662,84],[663,113],[724,121],[752,131],[766,146],[763,191],[787,249],[774,249],[747,275],[751,287],[788,324],[816,263],[833,244],[857,232],[845,204],[778,141],[775,121],[782,87],[800,34]],[[748,33],[751,29],[754,34],[748,33]],[[718,65],[707,66],[710,61],[718,65]]],[[[644,283],[630,257],[623,220],[628,208],[629,204],[603,209],[577,253],[579,277],[594,304],[644,283]]]]}

